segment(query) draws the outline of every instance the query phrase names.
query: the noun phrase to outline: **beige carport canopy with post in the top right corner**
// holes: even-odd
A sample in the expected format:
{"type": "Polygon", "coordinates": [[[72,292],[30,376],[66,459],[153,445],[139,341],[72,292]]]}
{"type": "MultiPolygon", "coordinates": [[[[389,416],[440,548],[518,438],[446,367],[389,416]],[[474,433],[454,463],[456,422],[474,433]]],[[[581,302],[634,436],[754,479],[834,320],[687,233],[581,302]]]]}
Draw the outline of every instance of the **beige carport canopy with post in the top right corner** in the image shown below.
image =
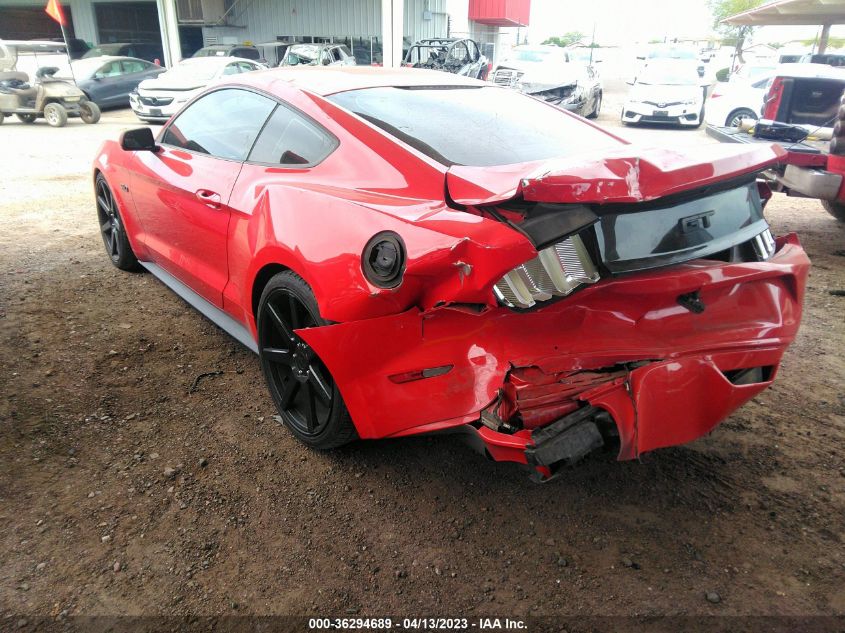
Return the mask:
{"type": "Polygon", "coordinates": [[[776,0],[722,20],[737,26],[819,25],[824,53],[832,24],[845,24],[845,0],[776,0]]]}

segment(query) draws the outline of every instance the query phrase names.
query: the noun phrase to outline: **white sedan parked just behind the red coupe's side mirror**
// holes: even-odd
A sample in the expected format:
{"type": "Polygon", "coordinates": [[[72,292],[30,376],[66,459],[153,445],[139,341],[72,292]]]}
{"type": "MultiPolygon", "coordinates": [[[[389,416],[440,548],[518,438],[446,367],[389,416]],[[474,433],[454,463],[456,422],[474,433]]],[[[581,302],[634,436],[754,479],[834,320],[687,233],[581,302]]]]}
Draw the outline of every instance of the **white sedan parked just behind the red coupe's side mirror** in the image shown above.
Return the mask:
{"type": "Polygon", "coordinates": [[[191,57],[129,93],[129,106],[142,121],[163,123],[209,84],[231,75],[265,68],[237,57],[191,57]]]}

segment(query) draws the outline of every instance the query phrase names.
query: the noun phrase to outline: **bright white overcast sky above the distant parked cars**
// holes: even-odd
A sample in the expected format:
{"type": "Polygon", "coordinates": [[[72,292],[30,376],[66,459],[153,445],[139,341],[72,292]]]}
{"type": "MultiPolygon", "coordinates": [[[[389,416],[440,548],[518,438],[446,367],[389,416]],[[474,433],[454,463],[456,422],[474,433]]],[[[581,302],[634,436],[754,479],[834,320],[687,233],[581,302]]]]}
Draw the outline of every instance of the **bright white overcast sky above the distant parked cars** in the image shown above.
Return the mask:
{"type": "MultiPolygon", "coordinates": [[[[567,31],[589,37],[594,24],[596,42],[625,45],[664,37],[705,38],[713,18],[705,0],[531,0],[528,38],[539,44],[567,31]]],[[[817,32],[812,26],[768,26],[758,29],[754,41],[783,43],[817,32]]],[[[845,36],[845,26],[834,26],[831,35],[845,36]]]]}

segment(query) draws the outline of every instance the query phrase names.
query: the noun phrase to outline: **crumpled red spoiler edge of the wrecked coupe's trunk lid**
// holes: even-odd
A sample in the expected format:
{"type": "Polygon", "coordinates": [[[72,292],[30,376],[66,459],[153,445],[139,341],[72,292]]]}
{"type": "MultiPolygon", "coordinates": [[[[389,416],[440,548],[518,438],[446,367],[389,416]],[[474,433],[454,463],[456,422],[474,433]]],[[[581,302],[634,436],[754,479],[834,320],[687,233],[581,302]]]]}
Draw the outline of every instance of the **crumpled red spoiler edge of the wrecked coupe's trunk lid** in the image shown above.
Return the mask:
{"type": "Polygon", "coordinates": [[[785,155],[773,144],[704,145],[687,152],[624,145],[499,167],[454,165],[446,187],[452,200],[466,206],[517,197],[564,204],[644,202],[754,173],[785,155]]]}

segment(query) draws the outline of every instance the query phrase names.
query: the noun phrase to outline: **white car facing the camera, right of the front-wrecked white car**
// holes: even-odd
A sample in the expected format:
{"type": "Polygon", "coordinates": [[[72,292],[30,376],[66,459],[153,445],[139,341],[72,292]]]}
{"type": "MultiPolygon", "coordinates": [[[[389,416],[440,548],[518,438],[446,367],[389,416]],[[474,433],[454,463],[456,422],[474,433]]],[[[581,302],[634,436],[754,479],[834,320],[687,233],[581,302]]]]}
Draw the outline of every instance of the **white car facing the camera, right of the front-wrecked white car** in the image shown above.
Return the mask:
{"type": "Polygon", "coordinates": [[[704,93],[694,64],[653,61],[631,82],[622,108],[622,123],[700,127],[704,122],[704,93]]]}

